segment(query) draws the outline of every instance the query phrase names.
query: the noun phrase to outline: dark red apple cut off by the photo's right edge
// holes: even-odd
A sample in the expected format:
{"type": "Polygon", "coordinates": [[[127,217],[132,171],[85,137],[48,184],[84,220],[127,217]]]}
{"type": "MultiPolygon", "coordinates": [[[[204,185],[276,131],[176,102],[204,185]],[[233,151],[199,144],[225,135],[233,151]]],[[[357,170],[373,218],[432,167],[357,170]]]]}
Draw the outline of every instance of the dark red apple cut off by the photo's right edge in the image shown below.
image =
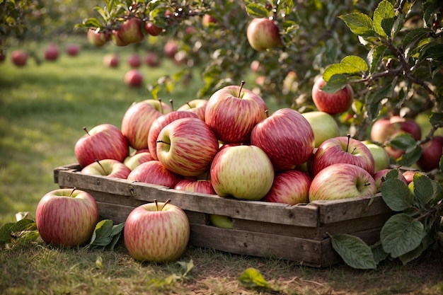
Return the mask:
{"type": "Polygon", "coordinates": [[[422,156],[417,161],[418,168],[424,171],[439,168],[443,155],[443,136],[432,137],[430,141],[422,144],[421,148],[422,156]]]}

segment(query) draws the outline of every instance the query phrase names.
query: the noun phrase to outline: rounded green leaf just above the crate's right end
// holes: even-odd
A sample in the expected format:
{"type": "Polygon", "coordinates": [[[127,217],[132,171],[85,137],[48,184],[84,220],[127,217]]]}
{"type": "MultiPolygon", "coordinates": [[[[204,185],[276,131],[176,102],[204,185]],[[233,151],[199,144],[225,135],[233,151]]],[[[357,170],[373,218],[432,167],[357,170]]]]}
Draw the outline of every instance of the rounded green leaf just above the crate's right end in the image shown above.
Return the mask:
{"type": "Polygon", "coordinates": [[[386,179],[381,185],[381,197],[392,211],[401,212],[413,204],[408,185],[399,179],[386,179]]]}

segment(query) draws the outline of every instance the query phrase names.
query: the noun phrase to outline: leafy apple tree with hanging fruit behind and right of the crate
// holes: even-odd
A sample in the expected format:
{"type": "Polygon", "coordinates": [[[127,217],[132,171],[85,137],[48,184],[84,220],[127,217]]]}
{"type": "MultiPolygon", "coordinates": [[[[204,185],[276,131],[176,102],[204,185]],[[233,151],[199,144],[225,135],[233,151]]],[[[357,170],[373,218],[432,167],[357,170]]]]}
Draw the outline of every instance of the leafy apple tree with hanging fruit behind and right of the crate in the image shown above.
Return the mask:
{"type": "MultiPolygon", "coordinates": [[[[193,79],[204,81],[199,98],[251,80],[246,87],[263,98],[307,112],[316,109],[311,89],[314,79],[322,77],[327,82],[323,91],[334,93],[347,85],[355,91],[351,108],[335,118],[356,139],[368,139],[380,117],[426,118],[430,128],[421,139],[403,132],[378,143],[403,151],[393,159],[398,167],[414,166],[425,152],[423,146],[442,130],[442,1],[120,0],[106,1],[95,11],[76,28],[93,28],[125,46],[130,42],[119,43],[118,35],[140,35],[127,25],[135,18],[145,24],[138,28],[139,45],[151,46],[146,34],[165,45],[176,42],[171,56],[180,57],[185,66],[149,86],[154,98],[162,88],[171,91],[180,79],[190,77],[190,68],[197,66],[201,76],[193,79]],[[277,30],[250,34],[254,18],[271,21],[277,30]],[[148,23],[159,30],[153,33],[148,23]],[[274,42],[275,37],[280,42],[274,42]]],[[[335,236],[333,244],[345,261],[371,268],[390,256],[405,263],[436,245],[443,207],[442,165],[440,159],[437,169],[414,175],[413,187],[387,176],[382,195],[400,213],[381,231],[381,242],[374,247],[379,260],[374,261],[374,255],[349,257],[350,248],[356,253],[371,249],[355,237],[335,236]]]]}

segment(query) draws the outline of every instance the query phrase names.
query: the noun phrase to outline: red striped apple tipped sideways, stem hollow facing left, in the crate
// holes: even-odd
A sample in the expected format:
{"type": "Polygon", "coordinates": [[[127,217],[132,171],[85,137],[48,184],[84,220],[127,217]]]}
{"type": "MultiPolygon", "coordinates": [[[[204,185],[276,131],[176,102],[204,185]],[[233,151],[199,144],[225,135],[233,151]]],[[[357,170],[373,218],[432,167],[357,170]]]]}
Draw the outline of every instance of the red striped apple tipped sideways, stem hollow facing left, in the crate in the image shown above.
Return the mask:
{"type": "Polygon", "coordinates": [[[161,129],[156,140],[159,161],[183,176],[208,170],[218,151],[219,141],[211,127],[198,118],[174,120],[161,129]]]}

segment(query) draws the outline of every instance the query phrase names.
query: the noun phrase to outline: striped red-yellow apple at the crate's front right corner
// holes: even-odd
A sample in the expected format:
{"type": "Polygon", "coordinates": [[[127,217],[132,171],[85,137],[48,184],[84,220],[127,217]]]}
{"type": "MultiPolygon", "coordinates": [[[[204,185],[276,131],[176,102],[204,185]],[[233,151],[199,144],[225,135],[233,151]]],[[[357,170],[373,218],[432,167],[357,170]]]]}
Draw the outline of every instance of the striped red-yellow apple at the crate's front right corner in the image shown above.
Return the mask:
{"type": "Polygon", "coordinates": [[[374,178],[367,170],[349,163],[338,163],[314,176],[309,187],[309,202],[366,197],[376,192],[374,178]]]}

